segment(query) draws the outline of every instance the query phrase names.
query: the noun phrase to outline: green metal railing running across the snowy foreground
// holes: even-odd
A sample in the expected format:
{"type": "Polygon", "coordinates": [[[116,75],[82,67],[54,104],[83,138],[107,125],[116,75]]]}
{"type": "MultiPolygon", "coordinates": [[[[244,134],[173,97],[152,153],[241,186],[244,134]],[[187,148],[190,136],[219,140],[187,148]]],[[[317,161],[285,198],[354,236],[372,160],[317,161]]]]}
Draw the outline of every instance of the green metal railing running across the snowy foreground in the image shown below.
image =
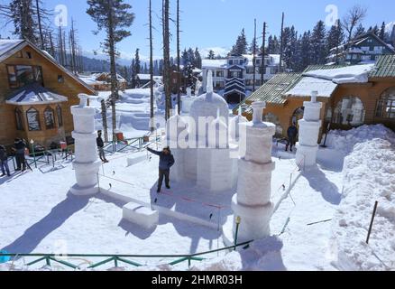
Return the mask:
{"type": "MultiPolygon", "coordinates": [[[[250,246],[250,244],[253,242],[253,240],[248,241],[248,242],[243,242],[241,244],[236,244],[234,246],[230,247],[222,247],[218,248],[216,250],[210,250],[206,252],[201,252],[201,253],[196,253],[196,254],[189,254],[189,255],[100,255],[100,254],[68,254],[68,255],[55,255],[55,254],[11,254],[11,253],[3,253],[0,254],[0,256],[8,256],[10,258],[19,258],[19,257],[39,257],[36,260],[33,260],[30,263],[27,263],[26,266],[32,266],[34,264],[37,264],[39,262],[45,261],[47,266],[52,266],[52,262],[54,263],[59,263],[63,266],[67,266],[69,268],[78,270],[80,269],[79,266],[76,266],[68,261],[61,260],[61,258],[95,258],[95,257],[104,257],[106,258],[103,261],[94,263],[90,266],[88,266],[88,269],[96,268],[98,266],[103,266],[108,263],[114,262],[115,267],[119,267],[119,263],[124,263],[128,264],[131,266],[139,267],[143,266],[140,263],[134,262],[133,260],[128,260],[126,258],[177,258],[176,260],[170,262],[168,265],[170,266],[175,266],[183,262],[188,262],[188,267],[191,266],[192,261],[203,261],[205,258],[201,256],[205,256],[208,254],[216,253],[216,252],[221,252],[221,251],[226,251],[226,250],[235,250],[238,247],[242,247],[243,249],[246,249],[250,246]]],[[[12,261],[8,261],[12,262],[12,261]]],[[[89,262],[90,263],[90,262],[89,262]]]]}

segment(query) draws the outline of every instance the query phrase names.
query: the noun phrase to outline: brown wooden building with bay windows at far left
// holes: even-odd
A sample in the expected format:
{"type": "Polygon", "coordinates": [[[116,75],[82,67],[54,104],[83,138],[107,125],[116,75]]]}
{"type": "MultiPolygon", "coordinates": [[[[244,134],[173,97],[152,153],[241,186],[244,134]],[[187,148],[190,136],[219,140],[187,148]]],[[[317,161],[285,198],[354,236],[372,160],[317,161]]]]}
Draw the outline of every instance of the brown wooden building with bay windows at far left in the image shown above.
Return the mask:
{"type": "Polygon", "coordinates": [[[31,42],[0,40],[0,144],[71,142],[79,93],[96,91],[31,42]]]}

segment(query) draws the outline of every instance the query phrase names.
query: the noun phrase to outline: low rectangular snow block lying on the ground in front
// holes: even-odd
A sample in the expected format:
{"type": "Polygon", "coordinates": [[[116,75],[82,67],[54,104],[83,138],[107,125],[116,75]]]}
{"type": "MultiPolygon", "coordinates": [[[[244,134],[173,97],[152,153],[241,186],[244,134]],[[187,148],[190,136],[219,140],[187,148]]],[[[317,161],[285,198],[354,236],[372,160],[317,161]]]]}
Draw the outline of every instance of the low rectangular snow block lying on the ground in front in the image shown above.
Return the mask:
{"type": "Polygon", "coordinates": [[[158,225],[159,211],[130,202],[124,205],[123,218],[142,228],[149,229],[158,225]]]}

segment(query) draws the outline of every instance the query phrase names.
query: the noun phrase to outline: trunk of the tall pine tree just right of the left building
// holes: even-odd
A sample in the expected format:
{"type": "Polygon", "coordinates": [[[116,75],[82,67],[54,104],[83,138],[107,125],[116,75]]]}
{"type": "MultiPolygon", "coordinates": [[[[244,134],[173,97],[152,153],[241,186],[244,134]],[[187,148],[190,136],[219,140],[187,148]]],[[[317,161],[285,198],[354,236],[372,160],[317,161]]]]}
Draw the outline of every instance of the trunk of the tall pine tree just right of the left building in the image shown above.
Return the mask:
{"type": "Polygon", "coordinates": [[[113,122],[113,140],[115,140],[116,131],[116,110],[115,102],[117,96],[117,81],[116,81],[116,68],[115,68],[115,40],[114,40],[114,19],[113,19],[113,0],[108,0],[108,45],[110,54],[110,73],[111,73],[111,111],[113,122]]]}

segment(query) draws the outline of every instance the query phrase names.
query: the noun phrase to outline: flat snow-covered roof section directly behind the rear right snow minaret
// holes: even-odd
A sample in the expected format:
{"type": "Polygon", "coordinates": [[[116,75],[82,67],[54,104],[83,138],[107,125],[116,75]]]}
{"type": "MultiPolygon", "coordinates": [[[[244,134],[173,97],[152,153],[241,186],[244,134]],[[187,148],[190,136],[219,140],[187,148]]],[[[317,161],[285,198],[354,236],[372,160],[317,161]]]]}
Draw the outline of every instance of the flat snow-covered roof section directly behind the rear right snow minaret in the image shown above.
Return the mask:
{"type": "Polygon", "coordinates": [[[318,91],[318,97],[330,98],[337,88],[332,80],[303,77],[298,84],[290,89],[285,96],[308,97],[311,91],[318,91]]]}

